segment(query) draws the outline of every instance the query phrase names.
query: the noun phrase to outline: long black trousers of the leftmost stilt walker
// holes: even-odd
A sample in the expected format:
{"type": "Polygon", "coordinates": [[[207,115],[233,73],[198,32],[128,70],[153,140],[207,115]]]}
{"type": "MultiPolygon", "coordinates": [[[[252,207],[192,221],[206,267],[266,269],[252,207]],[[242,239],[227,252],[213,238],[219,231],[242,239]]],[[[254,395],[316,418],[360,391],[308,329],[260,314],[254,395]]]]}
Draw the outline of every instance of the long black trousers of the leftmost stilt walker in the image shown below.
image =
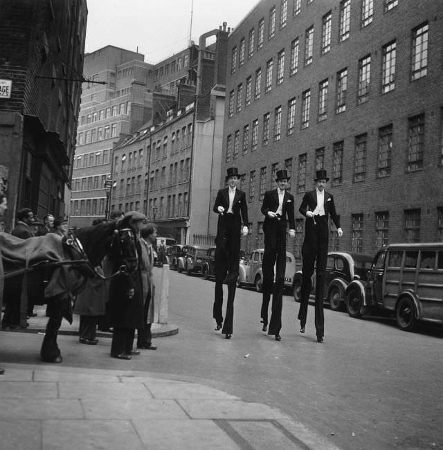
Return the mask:
{"type": "Polygon", "coordinates": [[[228,300],[226,316],[223,323],[224,334],[232,334],[234,318],[234,299],[240,259],[240,225],[238,217],[226,214],[222,220],[224,226],[219,226],[215,244],[215,300],[213,318],[217,324],[223,322],[221,308],[223,306],[223,282],[228,284],[228,300]]]}

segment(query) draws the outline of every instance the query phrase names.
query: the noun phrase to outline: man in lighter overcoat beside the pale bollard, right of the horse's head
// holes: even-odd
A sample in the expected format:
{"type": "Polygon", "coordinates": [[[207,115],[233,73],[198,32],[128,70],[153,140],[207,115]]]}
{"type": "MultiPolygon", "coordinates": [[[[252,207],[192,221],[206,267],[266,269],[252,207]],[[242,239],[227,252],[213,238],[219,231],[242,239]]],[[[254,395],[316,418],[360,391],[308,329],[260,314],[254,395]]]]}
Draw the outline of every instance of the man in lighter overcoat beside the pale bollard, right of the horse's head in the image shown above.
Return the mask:
{"type": "Polygon", "coordinates": [[[143,287],[143,321],[145,326],[137,330],[137,348],[157,350],[152,345],[151,325],[154,323],[155,286],[152,276],[154,267],[153,245],[156,242],[157,229],[152,224],[143,226],[140,231],[141,243],[141,279],[143,287]]]}

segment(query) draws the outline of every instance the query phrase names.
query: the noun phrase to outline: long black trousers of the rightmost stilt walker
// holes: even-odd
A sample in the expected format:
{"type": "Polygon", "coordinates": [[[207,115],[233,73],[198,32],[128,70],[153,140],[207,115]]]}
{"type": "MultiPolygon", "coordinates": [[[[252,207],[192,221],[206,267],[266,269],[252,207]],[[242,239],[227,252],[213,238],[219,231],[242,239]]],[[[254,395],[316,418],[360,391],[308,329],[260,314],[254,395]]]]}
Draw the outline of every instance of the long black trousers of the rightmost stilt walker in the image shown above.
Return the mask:
{"type": "Polygon", "coordinates": [[[316,267],[316,299],[315,299],[315,325],[316,335],[325,333],[325,318],[323,314],[323,291],[325,288],[325,271],[327,261],[328,227],[326,216],[315,216],[306,219],[305,240],[302,246],[302,286],[300,292],[300,309],[298,319],[300,326],[305,327],[309,294],[312,288],[312,274],[316,267]]]}

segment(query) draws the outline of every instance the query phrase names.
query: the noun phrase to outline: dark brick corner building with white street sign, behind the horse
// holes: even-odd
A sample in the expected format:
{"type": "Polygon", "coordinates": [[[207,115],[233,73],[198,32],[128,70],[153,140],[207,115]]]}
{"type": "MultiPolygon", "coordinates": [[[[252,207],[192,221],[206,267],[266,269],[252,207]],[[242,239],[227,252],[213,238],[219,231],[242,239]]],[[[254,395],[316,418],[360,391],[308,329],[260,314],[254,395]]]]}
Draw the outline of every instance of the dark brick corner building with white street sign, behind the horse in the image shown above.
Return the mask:
{"type": "Polygon", "coordinates": [[[80,107],[86,1],[3,0],[0,190],[18,209],[65,213],[80,107]]]}

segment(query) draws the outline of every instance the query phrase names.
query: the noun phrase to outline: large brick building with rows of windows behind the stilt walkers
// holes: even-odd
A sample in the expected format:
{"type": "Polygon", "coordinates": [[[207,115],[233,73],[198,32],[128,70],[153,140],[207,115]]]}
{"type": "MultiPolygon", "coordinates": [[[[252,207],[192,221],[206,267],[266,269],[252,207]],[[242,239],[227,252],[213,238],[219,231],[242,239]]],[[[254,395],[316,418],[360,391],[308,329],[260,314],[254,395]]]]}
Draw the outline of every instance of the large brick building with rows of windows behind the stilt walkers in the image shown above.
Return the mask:
{"type": "Polygon", "coordinates": [[[296,210],[327,170],[344,232],[331,249],[443,240],[442,30],[437,0],[262,0],[235,28],[221,173],[244,173],[248,251],[280,169],[296,210]]]}

